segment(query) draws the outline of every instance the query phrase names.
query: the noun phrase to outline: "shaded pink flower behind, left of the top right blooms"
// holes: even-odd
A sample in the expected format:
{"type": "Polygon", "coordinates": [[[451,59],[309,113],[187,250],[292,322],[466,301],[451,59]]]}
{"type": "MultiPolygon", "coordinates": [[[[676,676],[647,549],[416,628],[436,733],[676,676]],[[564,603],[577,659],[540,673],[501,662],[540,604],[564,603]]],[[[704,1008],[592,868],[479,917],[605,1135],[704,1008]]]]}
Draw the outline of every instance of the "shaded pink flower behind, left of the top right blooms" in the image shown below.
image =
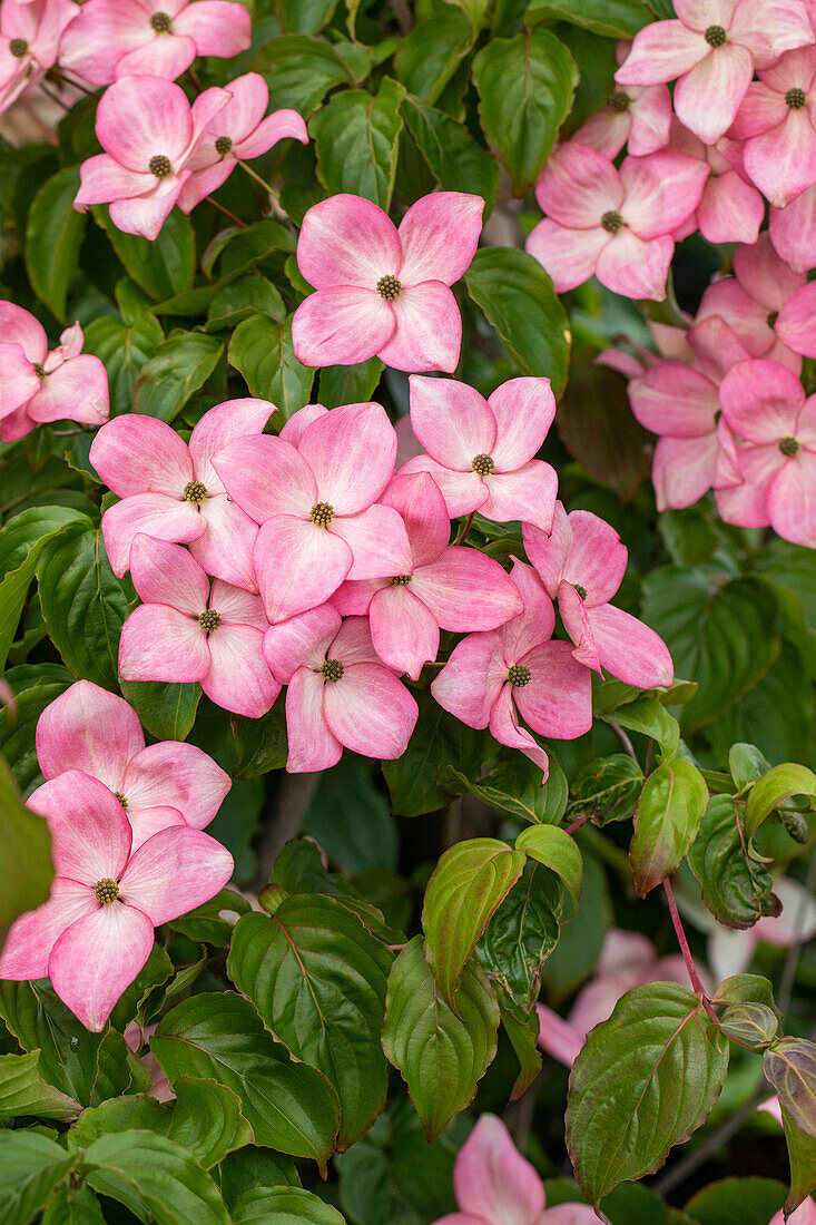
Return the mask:
{"type": "MultiPolygon", "coordinates": [[[[615,58],[619,64],[624,62],[631,45],[618,43],[615,58]]],[[[573,140],[598,149],[604,157],[618,157],[624,145],[627,153],[643,157],[665,148],[670,125],[671,96],[665,85],[630,86],[615,89],[606,105],[581,125],[573,140]]]]}

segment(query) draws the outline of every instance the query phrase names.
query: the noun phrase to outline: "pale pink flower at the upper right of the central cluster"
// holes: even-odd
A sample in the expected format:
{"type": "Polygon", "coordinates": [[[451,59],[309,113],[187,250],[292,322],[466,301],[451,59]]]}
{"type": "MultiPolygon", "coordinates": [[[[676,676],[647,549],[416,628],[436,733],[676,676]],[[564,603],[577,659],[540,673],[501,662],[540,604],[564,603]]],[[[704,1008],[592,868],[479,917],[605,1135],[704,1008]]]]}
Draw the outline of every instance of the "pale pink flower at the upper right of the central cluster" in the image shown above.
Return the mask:
{"type": "Polygon", "coordinates": [[[557,477],[533,458],[555,417],[549,379],[511,379],[489,399],[455,379],[413,375],[409,383],[410,424],[428,454],[401,472],[429,472],[451,518],[479,511],[549,532],[557,477]]]}

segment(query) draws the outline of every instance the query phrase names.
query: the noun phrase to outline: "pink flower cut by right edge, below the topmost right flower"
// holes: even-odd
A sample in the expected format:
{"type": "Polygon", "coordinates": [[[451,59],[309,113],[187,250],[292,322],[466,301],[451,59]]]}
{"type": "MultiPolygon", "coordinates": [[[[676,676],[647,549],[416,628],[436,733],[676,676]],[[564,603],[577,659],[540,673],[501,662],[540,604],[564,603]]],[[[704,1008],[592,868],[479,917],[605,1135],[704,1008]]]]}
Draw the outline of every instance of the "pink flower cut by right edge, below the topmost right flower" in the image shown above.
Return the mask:
{"type": "Polygon", "coordinates": [[[760,72],[730,135],[745,141],[745,170],[777,208],[816,183],[816,47],[788,51],[760,72]]]}

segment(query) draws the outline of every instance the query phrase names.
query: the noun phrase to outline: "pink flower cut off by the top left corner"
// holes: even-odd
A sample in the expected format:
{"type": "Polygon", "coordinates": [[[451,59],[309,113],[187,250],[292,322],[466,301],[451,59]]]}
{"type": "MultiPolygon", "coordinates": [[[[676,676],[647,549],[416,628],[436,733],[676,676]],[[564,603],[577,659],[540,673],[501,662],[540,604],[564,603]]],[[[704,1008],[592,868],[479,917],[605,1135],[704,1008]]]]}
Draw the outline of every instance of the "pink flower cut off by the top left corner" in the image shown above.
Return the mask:
{"type": "Polygon", "coordinates": [[[78,17],[72,0],[4,0],[0,6],[0,113],[53,67],[78,17]]]}

